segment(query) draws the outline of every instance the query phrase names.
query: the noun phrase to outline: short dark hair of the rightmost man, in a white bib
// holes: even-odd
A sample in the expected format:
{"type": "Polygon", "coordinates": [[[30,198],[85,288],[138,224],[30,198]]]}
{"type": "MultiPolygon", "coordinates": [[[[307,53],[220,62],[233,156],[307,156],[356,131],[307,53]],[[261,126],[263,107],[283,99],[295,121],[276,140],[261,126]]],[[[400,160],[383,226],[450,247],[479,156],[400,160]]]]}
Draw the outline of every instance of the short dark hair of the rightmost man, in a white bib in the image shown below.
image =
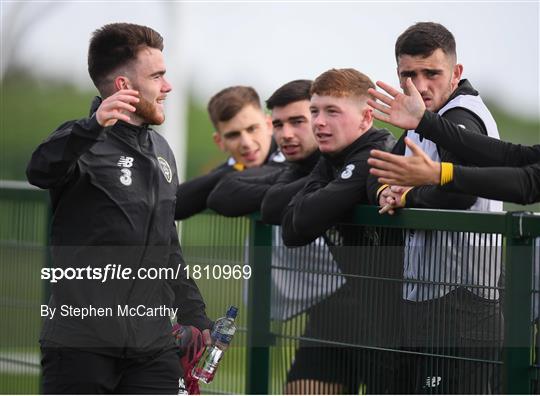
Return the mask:
{"type": "Polygon", "coordinates": [[[447,28],[440,23],[418,22],[398,37],[395,47],[396,61],[401,55],[428,57],[439,48],[456,59],[456,40],[447,28]]]}

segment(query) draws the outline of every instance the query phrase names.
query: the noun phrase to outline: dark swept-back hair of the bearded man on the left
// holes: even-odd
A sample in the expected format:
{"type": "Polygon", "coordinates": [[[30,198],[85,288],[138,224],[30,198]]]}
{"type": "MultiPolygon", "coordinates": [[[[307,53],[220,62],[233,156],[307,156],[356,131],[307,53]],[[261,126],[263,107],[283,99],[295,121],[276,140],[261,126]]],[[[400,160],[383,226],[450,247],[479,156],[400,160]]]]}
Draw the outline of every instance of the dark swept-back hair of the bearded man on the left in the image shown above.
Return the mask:
{"type": "Polygon", "coordinates": [[[88,73],[100,93],[107,91],[110,73],[137,59],[145,47],[163,51],[163,37],[147,26],[110,23],[94,31],[88,48],[88,73]]]}

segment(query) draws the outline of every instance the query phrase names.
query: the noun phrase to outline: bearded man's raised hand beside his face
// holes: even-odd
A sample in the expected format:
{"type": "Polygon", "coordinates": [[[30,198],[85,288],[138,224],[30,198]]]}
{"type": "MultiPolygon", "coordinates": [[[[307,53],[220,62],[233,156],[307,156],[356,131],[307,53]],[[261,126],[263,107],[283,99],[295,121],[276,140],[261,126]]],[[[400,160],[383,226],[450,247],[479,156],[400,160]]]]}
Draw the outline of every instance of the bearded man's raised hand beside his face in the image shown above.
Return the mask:
{"type": "Polygon", "coordinates": [[[129,122],[127,113],[134,113],[135,107],[132,104],[138,102],[138,91],[121,89],[101,102],[96,111],[96,120],[102,127],[114,125],[118,120],[129,122]]]}

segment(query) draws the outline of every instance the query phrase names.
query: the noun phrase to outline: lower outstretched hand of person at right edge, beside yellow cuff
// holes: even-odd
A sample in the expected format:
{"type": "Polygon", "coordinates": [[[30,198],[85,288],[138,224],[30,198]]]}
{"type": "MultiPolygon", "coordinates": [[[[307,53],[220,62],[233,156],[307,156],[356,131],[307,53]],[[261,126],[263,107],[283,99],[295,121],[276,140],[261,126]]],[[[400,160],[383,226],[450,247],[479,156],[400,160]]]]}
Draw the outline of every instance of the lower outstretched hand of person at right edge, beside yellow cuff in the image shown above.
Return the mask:
{"type": "Polygon", "coordinates": [[[410,157],[372,150],[368,159],[368,164],[372,166],[369,173],[377,176],[381,184],[398,186],[439,184],[441,164],[431,160],[409,138],[405,138],[405,144],[412,151],[413,155],[410,157]]]}

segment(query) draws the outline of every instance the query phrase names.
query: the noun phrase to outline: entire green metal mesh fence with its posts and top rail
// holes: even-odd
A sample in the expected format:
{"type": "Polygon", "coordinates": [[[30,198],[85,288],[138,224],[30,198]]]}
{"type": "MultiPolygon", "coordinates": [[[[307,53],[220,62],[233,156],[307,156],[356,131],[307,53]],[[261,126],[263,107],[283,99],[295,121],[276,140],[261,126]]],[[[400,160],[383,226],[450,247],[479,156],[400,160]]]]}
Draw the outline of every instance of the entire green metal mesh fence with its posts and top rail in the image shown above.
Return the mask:
{"type": "MultiPolygon", "coordinates": [[[[39,305],[46,295],[39,269],[49,265],[47,208],[45,192],[0,184],[1,393],[39,391],[39,305]]],[[[478,387],[471,393],[538,392],[533,322],[540,301],[538,215],[403,210],[380,216],[374,207],[358,207],[348,224],[294,251],[280,244],[278,228],[261,223],[256,215],[231,219],[204,213],[184,221],[180,235],[185,261],[199,278],[209,316],[221,316],[229,304],[240,308],[233,346],[214,382],[202,388],[204,393],[283,393],[286,383],[302,377],[293,373],[305,356],[317,360],[311,369],[322,366],[332,371],[349,387],[345,389],[354,387],[355,393],[374,393],[381,387],[404,392],[410,384],[399,388],[398,382],[389,388],[383,374],[399,372],[418,356],[429,361],[426,370],[434,381],[427,384],[432,386],[427,389],[430,393],[439,393],[438,375],[430,374],[439,366],[457,372],[480,367],[478,387]],[[418,235],[423,235],[422,244],[411,244],[418,235]],[[407,261],[411,257],[424,263],[424,272],[404,279],[403,268],[411,267],[407,261]],[[452,272],[452,260],[459,261],[458,272],[452,272]],[[458,289],[466,292],[459,294],[458,289]],[[481,331],[465,332],[477,337],[476,343],[490,337],[493,342],[479,355],[473,353],[476,348],[465,346],[461,354],[450,345],[450,324],[467,314],[458,315],[450,309],[452,304],[437,306],[447,309],[438,325],[430,322],[430,314],[417,317],[434,335],[430,345],[403,341],[407,333],[403,308],[414,310],[415,303],[423,301],[420,305],[431,307],[425,311],[433,313],[433,301],[444,300],[433,299],[433,293],[450,296],[465,307],[471,299],[473,305],[488,301],[481,309],[492,319],[481,331]],[[411,295],[413,300],[404,303],[411,295]],[[371,302],[357,307],[359,301],[371,302]],[[351,313],[356,308],[362,315],[351,313]],[[504,331],[498,331],[500,327],[504,331]],[[298,351],[308,352],[301,357],[298,351]],[[341,353],[350,364],[329,367],[343,360],[341,353]]]]}

